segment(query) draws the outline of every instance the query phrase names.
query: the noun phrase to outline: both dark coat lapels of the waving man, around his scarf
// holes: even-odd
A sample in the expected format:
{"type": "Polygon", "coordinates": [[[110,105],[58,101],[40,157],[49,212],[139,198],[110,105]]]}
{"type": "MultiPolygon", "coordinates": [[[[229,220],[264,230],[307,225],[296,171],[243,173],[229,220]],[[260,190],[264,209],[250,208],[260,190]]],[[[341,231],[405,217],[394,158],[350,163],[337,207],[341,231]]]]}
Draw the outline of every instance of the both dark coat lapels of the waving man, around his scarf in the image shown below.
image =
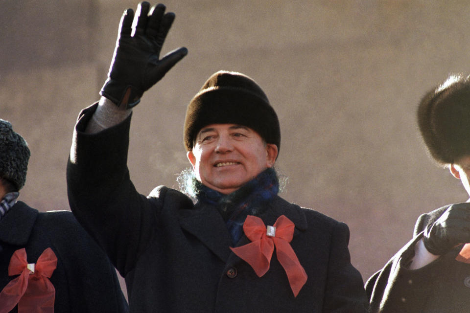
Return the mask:
{"type": "MultiPolygon", "coordinates": [[[[259,216],[266,225],[273,225],[278,217],[285,215],[296,227],[296,232],[304,231],[307,228],[305,213],[295,204],[283,200],[276,196],[269,208],[259,216]]],[[[229,231],[217,209],[206,203],[197,202],[193,209],[180,210],[180,225],[189,233],[196,236],[213,253],[215,253],[224,262],[227,262],[230,254],[229,231]]],[[[248,243],[246,236],[242,236],[237,246],[248,243]]]]}

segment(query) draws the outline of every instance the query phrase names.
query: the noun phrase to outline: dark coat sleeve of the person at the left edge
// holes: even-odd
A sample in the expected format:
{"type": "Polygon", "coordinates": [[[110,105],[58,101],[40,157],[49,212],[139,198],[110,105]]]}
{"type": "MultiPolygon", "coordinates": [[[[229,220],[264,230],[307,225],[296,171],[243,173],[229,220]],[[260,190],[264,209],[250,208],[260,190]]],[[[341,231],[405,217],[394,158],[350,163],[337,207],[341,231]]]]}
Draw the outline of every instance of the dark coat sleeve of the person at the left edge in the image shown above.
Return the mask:
{"type": "Polygon", "coordinates": [[[71,212],[40,213],[37,225],[63,264],[71,313],[128,312],[116,269],[71,212]]]}

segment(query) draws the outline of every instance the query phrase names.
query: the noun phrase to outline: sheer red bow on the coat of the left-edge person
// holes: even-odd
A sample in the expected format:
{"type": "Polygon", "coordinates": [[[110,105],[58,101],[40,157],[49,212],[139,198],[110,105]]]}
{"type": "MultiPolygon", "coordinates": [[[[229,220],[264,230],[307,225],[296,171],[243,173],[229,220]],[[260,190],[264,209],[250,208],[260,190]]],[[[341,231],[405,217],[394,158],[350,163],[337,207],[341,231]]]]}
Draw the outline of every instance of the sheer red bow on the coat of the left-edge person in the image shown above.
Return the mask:
{"type": "Polygon", "coordinates": [[[57,257],[47,248],[36,264],[28,264],[26,250],[11,256],[8,275],[18,275],[0,292],[0,313],[10,312],[18,304],[18,313],[53,313],[55,288],[49,281],[57,266],[57,257]]]}

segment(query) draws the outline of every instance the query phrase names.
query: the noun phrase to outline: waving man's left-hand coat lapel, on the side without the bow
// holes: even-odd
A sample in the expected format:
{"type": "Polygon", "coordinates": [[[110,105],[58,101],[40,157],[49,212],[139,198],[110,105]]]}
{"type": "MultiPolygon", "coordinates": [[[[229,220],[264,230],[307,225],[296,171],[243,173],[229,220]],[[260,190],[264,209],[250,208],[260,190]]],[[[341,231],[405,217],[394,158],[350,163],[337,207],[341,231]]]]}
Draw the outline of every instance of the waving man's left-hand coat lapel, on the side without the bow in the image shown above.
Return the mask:
{"type": "Polygon", "coordinates": [[[197,202],[193,209],[181,210],[180,225],[227,262],[232,242],[227,225],[214,206],[197,202]]]}

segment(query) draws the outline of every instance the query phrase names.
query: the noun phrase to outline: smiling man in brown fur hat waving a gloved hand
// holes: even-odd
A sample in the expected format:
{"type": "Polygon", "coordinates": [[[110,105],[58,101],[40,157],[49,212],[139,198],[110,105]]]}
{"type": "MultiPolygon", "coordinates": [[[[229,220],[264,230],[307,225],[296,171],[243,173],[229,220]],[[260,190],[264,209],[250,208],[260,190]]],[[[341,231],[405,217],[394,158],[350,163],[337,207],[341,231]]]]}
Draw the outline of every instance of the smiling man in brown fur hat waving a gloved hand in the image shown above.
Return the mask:
{"type": "Polygon", "coordinates": [[[121,18],[108,79],[79,114],[67,169],[71,210],[125,277],[131,312],[366,312],[348,226],[278,196],[280,124],[249,76],[217,71],[189,102],[186,193],[134,188],[132,112],[187,54],[159,57],[174,19],[163,4],[136,12],[121,18]]]}

